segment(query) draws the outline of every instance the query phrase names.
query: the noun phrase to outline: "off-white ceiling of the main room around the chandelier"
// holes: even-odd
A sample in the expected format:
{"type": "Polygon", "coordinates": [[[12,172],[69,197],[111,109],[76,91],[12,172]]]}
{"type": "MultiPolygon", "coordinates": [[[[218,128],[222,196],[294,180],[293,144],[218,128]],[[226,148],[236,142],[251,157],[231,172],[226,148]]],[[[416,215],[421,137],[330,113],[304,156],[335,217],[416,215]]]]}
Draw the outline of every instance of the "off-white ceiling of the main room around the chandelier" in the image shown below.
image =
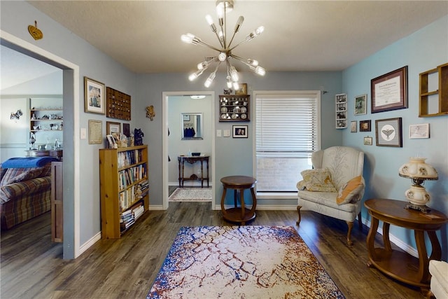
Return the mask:
{"type": "MultiPolygon", "coordinates": [[[[215,55],[182,43],[181,34],[218,46],[204,18],[210,14],[216,22],[215,1],[29,4],[137,73],[189,72],[215,55]]],[[[260,25],[265,32],[235,49],[235,55],[254,58],[267,71],[340,71],[447,14],[448,1],[236,0],[228,35],[243,15],[234,45],[260,25]]],[[[45,28],[39,29],[45,39],[45,28]]]]}

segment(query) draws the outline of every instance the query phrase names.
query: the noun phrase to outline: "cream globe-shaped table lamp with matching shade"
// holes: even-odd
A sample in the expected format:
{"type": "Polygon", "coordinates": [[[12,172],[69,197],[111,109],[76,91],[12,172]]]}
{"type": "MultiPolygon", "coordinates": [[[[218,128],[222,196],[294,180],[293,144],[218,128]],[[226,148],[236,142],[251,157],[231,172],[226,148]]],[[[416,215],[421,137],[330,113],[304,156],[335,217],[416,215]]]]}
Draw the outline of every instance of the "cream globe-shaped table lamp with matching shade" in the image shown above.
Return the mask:
{"type": "Polygon", "coordinates": [[[412,180],[412,186],[405,192],[406,198],[409,200],[405,208],[428,213],[430,208],[426,207],[426,203],[429,202],[430,196],[422,185],[426,180],[438,179],[438,175],[434,167],[426,164],[425,160],[426,158],[409,158],[409,162],[398,169],[398,174],[412,180]]]}

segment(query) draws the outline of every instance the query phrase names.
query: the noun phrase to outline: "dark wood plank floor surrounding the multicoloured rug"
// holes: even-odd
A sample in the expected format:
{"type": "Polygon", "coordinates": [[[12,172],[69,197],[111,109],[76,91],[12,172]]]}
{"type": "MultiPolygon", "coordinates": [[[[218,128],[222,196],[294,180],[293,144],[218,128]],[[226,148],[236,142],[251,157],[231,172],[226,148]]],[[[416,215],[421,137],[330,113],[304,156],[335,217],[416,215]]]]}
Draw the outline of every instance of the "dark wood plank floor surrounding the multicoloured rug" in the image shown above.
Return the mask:
{"type": "MultiPolygon", "coordinates": [[[[366,266],[366,227],[354,225],[347,246],[344,221],[309,211],[300,227],[295,221],[296,211],[257,211],[248,225],[295,227],[346,298],[423,298],[366,266]]],[[[146,212],[122,239],[101,240],[76,260],[63,260],[44,214],[1,232],[0,298],[146,298],[179,228],[195,225],[231,223],[209,202],[171,202],[167,211],[146,212]]]]}

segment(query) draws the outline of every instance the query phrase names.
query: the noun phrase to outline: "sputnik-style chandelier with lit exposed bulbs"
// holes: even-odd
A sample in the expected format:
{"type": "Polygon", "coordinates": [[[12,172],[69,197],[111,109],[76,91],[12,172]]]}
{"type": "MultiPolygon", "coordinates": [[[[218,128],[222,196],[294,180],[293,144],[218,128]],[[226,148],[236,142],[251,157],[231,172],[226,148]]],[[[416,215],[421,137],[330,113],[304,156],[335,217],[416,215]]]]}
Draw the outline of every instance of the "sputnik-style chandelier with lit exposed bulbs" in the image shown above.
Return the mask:
{"type": "Polygon", "coordinates": [[[210,25],[211,31],[214,32],[214,34],[216,34],[220,46],[218,47],[211,46],[208,43],[202,41],[202,39],[200,39],[199,37],[190,33],[183,34],[181,36],[181,40],[185,43],[193,43],[193,45],[204,46],[212,50],[216,50],[218,52],[216,56],[208,57],[204,62],[200,62],[199,64],[197,64],[197,71],[188,76],[188,79],[190,81],[194,81],[197,77],[201,76],[202,73],[204,73],[204,71],[209,69],[211,65],[216,64],[216,67],[214,67],[214,71],[210,73],[209,77],[204,82],[204,86],[206,88],[209,88],[211,83],[214,81],[216,71],[218,71],[218,67],[221,64],[225,64],[227,67],[227,77],[226,77],[227,87],[233,88],[234,90],[239,90],[239,83],[238,83],[239,75],[237,69],[230,63],[232,58],[246,64],[246,66],[248,66],[249,69],[254,71],[255,74],[258,74],[260,76],[265,76],[266,74],[266,70],[258,65],[257,60],[253,60],[251,58],[246,59],[232,54],[232,50],[237,48],[237,46],[241,45],[241,43],[246,43],[247,41],[254,39],[256,36],[260,35],[265,29],[265,27],[262,26],[258,27],[253,32],[248,34],[243,41],[240,41],[235,46],[232,46],[232,41],[235,38],[235,34],[239,32],[239,29],[241,28],[241,25],[243,25],[244,22],[244,17],[240,15],[237,20],[237,24],[235,25],[235,29],[233,29],[232,37],[228,39],[226,15],[227,13],[230,13],[230,11],[233,10],[233,4],[234,4],[233,0],[216,1],[216,13],[218,14],[218,24],[220,27],[219,31],[214,23],[213,18],[211,18],[211,15],[206,15],[205,17],[205,19],[210,25]]]}

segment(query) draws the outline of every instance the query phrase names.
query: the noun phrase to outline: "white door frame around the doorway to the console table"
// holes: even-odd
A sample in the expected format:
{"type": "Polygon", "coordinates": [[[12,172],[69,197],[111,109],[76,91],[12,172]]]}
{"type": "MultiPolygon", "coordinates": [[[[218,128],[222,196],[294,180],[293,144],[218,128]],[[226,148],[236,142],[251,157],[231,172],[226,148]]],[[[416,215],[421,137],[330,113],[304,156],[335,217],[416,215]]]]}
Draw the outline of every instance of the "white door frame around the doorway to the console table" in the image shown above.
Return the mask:
{"type": "Polygon", "coordinates": [[[215,204],[215,92],[213,91],[196,91],[196,92],[162,92],[162,195],[163,203],[162,209],[168,209],[168,98],[170,96],[180,95],[207,95],[211,97],[211,209],[214,209],[215,204]]]}

